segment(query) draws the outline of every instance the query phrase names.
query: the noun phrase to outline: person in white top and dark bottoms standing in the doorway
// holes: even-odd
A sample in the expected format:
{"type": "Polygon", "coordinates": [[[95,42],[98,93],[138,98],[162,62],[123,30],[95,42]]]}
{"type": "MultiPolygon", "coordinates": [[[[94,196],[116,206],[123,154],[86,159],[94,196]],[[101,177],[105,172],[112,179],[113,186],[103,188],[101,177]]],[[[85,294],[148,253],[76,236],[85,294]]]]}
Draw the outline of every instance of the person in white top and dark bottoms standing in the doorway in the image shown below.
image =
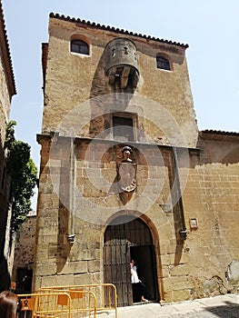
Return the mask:
{"type": "Polygon", "coordinates": [[[141,302],[148,303],[148,300],[144,298],[145,284],[138,277],[137,267],[134,260],[132,260],[130,263],[130,269],[134,303],[137,302],[139,299],[141,302]]]}

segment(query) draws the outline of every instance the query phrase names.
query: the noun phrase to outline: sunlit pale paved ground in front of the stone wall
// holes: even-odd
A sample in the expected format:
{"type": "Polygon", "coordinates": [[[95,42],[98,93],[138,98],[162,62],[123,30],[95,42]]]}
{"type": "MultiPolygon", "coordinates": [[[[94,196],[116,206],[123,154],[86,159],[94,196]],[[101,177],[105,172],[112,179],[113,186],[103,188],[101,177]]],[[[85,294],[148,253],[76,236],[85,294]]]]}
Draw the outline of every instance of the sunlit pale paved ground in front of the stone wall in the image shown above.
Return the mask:
{"type": "MultiPolygon", "coordinates": [[[[115,317],[114,312],[99,318],[115,317]]],[[[225,294],[182,303],[144,303],[117,309],[118,318],[239,318],[239,294],[225,294]]]]}

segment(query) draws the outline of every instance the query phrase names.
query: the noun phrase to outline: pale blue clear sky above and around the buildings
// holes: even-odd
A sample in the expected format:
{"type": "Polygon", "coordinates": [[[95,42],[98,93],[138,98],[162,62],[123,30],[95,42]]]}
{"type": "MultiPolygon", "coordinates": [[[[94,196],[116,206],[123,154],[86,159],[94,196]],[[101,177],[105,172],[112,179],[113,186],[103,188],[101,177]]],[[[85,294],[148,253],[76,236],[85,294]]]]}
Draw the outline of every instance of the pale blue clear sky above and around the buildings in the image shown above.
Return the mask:
{"type": "Polygon", "coordinates": [[[239,132],[238,0],[2,0],[17,94],[16,139],[31,145],[39,168],[43,92],[41,44],[50,12],[188,44],[194,109],[200,130],[239,132]]]}

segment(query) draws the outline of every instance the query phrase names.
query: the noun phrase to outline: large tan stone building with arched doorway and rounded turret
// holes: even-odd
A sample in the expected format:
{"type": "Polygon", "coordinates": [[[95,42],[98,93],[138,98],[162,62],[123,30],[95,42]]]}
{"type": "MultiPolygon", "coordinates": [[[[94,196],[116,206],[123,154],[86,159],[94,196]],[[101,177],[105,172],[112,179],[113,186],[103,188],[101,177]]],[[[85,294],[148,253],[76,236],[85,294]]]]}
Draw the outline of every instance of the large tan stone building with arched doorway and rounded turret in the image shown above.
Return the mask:
{"type": "Polygon", "coordinates": [[[129,305],[132,258],[151,301],[237,290],[239,134],[198,131],[187,46],[49,16],[33,290],[129,305]]]}

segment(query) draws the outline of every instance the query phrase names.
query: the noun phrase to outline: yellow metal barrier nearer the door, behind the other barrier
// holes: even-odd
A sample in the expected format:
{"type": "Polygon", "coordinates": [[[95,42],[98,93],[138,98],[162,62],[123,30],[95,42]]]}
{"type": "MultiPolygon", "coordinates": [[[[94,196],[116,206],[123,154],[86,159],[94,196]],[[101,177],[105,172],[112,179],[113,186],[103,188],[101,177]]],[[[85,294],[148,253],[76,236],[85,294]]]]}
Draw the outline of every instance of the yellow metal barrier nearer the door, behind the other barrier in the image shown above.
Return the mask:
{"type": "Polygon", "coordinates": [[[96,312],[105,310],[114,310],[115,318],[117,318],[117,293],[113,283],[95,283],[83,285],[64,285],[64,286],[48,286],[42,287],[38,292],[60,292],[72,293],[74,291],[91,292],[96,298],[96,312]]]}

